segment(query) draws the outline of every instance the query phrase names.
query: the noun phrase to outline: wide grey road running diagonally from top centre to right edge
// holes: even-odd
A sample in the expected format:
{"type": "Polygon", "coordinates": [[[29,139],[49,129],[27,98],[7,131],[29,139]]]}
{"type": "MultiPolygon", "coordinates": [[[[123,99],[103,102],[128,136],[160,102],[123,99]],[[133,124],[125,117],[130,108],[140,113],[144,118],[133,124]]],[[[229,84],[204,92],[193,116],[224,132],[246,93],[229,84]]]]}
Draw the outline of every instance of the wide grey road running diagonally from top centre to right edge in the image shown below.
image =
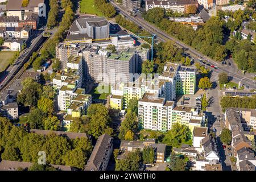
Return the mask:
{"type": "Polygon", "coordinates": [[[118,5],[118,4],[114,3],[113,1],[111,1],[111,3],[114,7],[117,7],[119,10],[119,13],[125,15],[127,19],[138,24],[138,26],[141,26],[144,30],[147,30],[151,34],[156,34],[158,36],[158,40],[160,40],[162,42],[166,42],[167,40],[172,40],[172,41],[174,41],[174,43],[176,44],[177,47],[186,49],[185,52],[189,53],[195,61],[199,62],[200,59],[203,59],[207,63],[217,66],[218,69],[214,69],[214,68],[211,68],[208,65],[206,65],[206,67],[209,67],[213,72],[216,72],[216,73],[227,72],[229,74],[229,76],[233,78],[234,82],[241,81],[243,84],[248,85],[250,89],[256,88],[255,87],[256,83],[254,80],[251,80],[250,78],[239,75],[236,72],[229,71],[229,68],[223,67],[221,63],[217,63],[216,61],[214,61],[214,60],[210,59],[209,57],[196,51],[194,48],[187,46],[186,44],[180,42],[180,40],[177,40],[176,38],[166,34],[166,32],[159,30],[159,28],[156,28],[154,25],[146,22],[142,17],[131,16],[130,13],[128,11],[126,11],[126,9],[123,6],[118,5]]]}

